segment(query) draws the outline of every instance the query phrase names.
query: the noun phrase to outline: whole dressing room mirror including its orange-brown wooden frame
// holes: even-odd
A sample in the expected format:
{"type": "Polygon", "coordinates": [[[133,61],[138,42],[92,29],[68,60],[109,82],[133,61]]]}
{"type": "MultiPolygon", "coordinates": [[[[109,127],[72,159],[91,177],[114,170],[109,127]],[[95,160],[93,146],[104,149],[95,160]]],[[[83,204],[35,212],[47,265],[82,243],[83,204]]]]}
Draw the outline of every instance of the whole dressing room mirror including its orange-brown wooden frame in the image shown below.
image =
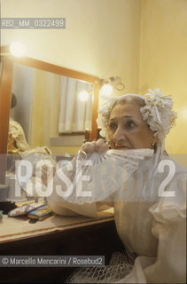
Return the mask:
{"type": "MultiPolygon", "coordinates": [[[[52,137],[56,136],[64,140],[69,132],[75,131],[80,134],[83,132],[82,130],[90,129],[90,125],[90,140],[97,138],[96,119],[99,91],[99,79],[97,77],[36,59],[14,58],[10,54],[1,59],[0,154],[7,153],[10,116],[22,126],[27,142],[32,148],[50,146],[52,137]],[[25,83],[21,80],[25,80],[25,83]],[[70,90],[67,88],[68,85],[71,86],[70,90]],[[75,96],[85,88],[90,93],[89,102],[83,102],[82,107],[78,107],[74,111],[74,108],[71,109],[70,107],[72,105],[77,106],[81,102],[74,101],[73,94],[75,96]],[[66,101],[69,106],[65,106],[65,98],[62,96],[63,90],[66,93],[67,89],[66,101]],[[16,96],[17,106],[12,107],[11,110],[12,93],[16,96]],[[69,99],[69,96],[71,99],[69,99]],[[68,120],[71,117],[73,123],[68,123],[68,120],[67,123],[63,122],[63,119],[66,118],[64,110],[66,110],[68,120]],[[67,126],[68,124],[73,125],[71,130],[66,124],[67,126]],[[77,124],[81,128],[77,128],[77,124]],[[59,134],[59,132],[62,133],[59,134]]],[[[77,137],[80,137],[80,135],[77,137]]],[[[82,138],[84,138],[84,135],[82,138]]],[[[68,143],[68,138],[66,141],[67,145],[71,146],[68,143]]],[[[59,146],[58,144],[53,145],[59,146]]],[[[5,177],[6,166],[4,161],[5,158],[1,157],[1,184],[4,184],[5,177]]]]}

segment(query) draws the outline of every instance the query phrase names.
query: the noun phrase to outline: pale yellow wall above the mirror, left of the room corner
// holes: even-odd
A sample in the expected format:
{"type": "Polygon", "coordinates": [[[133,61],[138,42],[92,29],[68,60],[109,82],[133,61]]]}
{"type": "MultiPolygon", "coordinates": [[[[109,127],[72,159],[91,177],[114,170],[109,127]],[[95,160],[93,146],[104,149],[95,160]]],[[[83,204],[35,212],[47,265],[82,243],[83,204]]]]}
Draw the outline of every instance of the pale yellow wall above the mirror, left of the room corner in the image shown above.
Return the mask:
{"type": "MultiPolygon", "coordinates": [[[[120,75],[126,92],[138,90],[138,0],[2,0],[2,17],[66,17],[66,29],[2,29],[3,45],[19,40],[27,56],[107,78],[120,75]]],[[[77,147],[55,152],[75,154],[77,147]]]]}

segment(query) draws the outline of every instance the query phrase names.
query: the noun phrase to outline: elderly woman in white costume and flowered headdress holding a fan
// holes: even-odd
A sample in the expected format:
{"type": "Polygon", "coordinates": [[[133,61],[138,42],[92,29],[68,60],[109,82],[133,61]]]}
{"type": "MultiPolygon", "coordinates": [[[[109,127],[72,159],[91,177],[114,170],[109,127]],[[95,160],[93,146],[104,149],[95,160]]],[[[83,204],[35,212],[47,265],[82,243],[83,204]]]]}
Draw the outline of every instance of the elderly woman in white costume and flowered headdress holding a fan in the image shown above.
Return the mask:
{"type": "MultiPolygon", "coordinates": [[[[80,157],[81,162],[93,162],[85,185],[85,189],[90,186],[91,197],[76,196],[74,190],[63,197],[53,192],[48,202],[58,214],[90,217],[113,206],[126,256],[114,256],[105,268],[82,268],[70,281],[185,283],[187,173],[164,148],[164,138],[175,122],[172,100],[155,90],[144,97],[129,94],[103,102],[97,122],[109,145],[103,139],[85,143],[71,167],[64,167],[73,181],[80,157]],[[108,183],[102,175],[98,183],[98,171],[104,168],[108,183]]],[[[59,174],[55,184],[62,185],[59,174]]]]}

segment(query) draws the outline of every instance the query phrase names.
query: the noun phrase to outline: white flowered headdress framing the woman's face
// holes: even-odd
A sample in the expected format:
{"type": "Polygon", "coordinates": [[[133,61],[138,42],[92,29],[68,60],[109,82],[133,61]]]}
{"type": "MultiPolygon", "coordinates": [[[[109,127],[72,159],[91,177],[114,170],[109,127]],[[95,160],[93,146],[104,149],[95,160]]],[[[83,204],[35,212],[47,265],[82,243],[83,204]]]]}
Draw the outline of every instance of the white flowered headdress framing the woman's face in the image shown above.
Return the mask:
{"type": "Polygon", "coordinates": [[[127,94],[121,97],[102,96],[97,117],[97,125],[101,128],[100,135],[103,137],[106,136],[107,122],[114,104],[118,100],[128,97],[136,97],[144,100],[145,106],[140,107],[140,112],[144,121],[155,132],[154,136],[159,138],[161,145],[171,127],[175,125],[176,114],[172,110],[173,101],[171,97],[163,96],[160,89],[154,91],[149,89],[144,97],[135,94],[127,94]]]}

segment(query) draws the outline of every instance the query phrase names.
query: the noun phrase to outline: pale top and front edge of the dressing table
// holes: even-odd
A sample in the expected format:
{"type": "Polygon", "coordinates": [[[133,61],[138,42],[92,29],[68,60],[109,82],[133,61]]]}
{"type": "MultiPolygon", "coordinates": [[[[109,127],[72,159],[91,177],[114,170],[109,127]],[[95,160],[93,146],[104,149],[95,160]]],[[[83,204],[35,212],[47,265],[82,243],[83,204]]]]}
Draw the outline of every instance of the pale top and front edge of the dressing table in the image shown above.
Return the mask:
{"type": "Polygon", "coordinates": [[[30,224],[28,219],[23,220],[20,217],[8,217],[5,215],[4,218],[0,220],[0,244],[7,241],[27,239],[55,231],[63,232],[73,228],[107,223],[113,219],[113,209],[99,212],[97,218],[78,215],[75,217],[53,215],[43,221],[37,221],[35,224],[30,224]]]}

